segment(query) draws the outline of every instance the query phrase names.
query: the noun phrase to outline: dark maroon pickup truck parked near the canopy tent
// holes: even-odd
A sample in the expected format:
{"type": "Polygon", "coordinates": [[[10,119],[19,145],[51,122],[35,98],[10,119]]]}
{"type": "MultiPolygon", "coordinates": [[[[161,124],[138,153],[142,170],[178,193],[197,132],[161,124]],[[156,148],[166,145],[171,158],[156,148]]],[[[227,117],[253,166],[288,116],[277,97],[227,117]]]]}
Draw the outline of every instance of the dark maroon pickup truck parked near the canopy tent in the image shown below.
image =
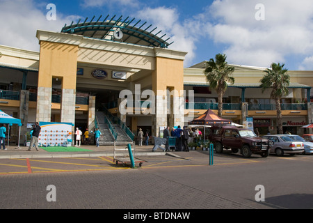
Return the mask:
{"type": "Polygon", "coordinates": [[[267,157],[271,144],[267,139],[257,137],[252,130],[228,125],[210,134],[209,139],[214,143],[216,153],[223,153],[223,148],[231,149],[233,153],[240,150],[246,158],[251,157],[252,153],[267,157]]]}

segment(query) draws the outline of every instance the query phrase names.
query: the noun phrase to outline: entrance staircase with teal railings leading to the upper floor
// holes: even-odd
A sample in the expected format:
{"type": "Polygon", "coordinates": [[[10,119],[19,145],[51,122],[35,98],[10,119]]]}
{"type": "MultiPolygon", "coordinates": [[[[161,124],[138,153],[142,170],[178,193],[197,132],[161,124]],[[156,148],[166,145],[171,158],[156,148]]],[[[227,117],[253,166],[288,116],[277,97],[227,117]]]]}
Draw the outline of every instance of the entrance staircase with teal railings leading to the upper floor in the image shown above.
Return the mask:
{"type": "MultiPolygon", "coordinates": [[[[109,130],[109,126],[104,123],[104,118],[108,118],[104,112],[96,112],[96,117],[97,117],[97,123],[98,123],[98,128],[100,132],[102,133],[103,137],[100,137],[99,139],[99,145],[100,146],[109,146],[114,144],[114,138],[109,130]]],[[[109,118],[108,118],[109,119],[109,118]]],[[[115,141],[116,145],[126,145],[126,144],[132,144],[133,141],[128,137],[127,133],[122,130],[119,124],[113,123],[110,119],[109,121],[111,122],[111,125],[115,132],[118,133],[118,137],[115,141]]]]}

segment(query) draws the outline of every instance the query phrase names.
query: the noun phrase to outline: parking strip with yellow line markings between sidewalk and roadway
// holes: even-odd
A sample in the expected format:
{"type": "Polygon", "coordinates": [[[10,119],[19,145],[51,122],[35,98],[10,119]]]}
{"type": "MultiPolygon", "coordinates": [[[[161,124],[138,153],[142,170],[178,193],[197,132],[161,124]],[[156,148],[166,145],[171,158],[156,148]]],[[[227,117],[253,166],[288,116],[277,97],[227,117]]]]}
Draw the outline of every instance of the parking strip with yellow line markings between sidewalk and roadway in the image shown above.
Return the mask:
{"type": "MultiPolygon", "coordinates": [[[[143,162],[136,169],[161,169],[161,168],[179,168],[179,167],[205,167],[209,166],[209,151],[190,151],[190,152],[170,152],[164,155],[146,155],[136,156],[137,160],[143,162]]],[[[270,155],[260,157],[252,155],[250,158],[243,158],[240,154],[224,151],[222,154],[214,153],[213,166],[220,165],[253,165],[260,162],[288,162],[294,160],[298,162],[312,162],[312,155],[284,155],[278,157],[270,155]]],[[[130,160],[129,160],[130,161],[130,160]]],[[[49,158],[12,158],[0,159],[0,174],[36,174],[36,173],[56,173],[71,171],[117,171],[130,169],[130,162],[125,166],[116,164],[113,156],[97,157],[49,157],[49,158]]]]}

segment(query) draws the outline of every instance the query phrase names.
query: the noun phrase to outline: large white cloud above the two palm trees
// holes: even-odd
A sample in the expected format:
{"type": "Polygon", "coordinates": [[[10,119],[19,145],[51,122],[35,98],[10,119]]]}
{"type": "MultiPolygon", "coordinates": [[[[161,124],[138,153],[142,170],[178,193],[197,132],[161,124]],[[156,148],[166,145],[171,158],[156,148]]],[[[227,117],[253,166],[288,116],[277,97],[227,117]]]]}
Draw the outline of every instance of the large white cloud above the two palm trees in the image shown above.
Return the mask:
{"type": "Polygon", "coordinates": [[[214,18],[208,34],[226,46],[231,63],[268,67],[313,53],[311,0],[216,0],[206,15],[214,18]],[[257,3],[264,5],[264,21],[255,19],[257,3]]]}

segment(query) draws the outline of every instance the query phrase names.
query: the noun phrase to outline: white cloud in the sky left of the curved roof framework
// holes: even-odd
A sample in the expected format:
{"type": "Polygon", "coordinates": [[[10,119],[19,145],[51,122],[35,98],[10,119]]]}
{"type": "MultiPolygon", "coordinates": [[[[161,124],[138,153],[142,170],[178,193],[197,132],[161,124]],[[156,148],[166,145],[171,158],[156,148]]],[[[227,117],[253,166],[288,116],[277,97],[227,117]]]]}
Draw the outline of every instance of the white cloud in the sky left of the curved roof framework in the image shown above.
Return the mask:
{"type": "Polygon", "coordinates": [[[56,8],[56,20],[49,21],[48,12],[46,6],[31,0],[0,1],[0,21],[6,21],[1,23],[0,44],[39,51],[35,37],[38,29],[61,31],[65,23],[77,18],[75,15],[65,17],[56,8]]]}

